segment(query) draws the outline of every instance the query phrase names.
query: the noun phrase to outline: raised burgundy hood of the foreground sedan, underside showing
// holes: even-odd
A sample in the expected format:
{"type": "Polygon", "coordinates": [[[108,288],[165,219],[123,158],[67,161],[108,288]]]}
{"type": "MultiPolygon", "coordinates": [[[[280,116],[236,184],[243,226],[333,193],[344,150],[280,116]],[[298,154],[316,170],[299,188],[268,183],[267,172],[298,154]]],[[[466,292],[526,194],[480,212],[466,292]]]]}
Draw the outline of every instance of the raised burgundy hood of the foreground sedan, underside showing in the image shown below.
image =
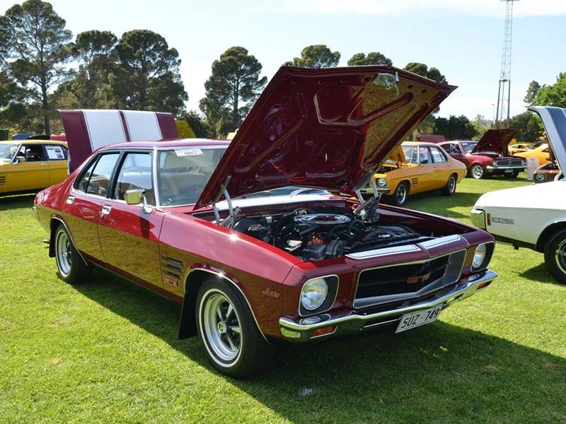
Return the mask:
{"type": "Polygon", "coordinates": [[[195,208],[288,185],[354,194],[456,87],[391,66],[275,73],[195,208]]]}

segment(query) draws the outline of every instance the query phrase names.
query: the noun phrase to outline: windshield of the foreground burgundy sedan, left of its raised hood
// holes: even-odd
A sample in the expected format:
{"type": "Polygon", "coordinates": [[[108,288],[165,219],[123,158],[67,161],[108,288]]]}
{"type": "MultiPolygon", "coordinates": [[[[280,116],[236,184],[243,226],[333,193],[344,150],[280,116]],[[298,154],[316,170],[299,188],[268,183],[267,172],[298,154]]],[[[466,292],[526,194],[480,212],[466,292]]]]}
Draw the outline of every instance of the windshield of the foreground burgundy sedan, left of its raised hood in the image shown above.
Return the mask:
{"type": "Polygon", "coordinates": [[[197,203],[225,151],[226,146],[187,146],[160,151],[157,157],[160,204],[180,206],[197,203]]]}

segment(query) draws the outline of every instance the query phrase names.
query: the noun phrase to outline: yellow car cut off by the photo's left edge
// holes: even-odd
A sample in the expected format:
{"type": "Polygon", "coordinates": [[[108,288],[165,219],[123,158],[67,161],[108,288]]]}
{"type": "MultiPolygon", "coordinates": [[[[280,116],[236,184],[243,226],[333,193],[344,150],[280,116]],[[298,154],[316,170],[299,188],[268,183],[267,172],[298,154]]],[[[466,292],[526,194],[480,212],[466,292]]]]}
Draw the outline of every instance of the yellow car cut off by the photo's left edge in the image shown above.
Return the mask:
{"type": "Polygon", "coordinates": [[[54,140],[0,141],[0,195],[32,192],[68,175],[67,143],[54,140]]]}

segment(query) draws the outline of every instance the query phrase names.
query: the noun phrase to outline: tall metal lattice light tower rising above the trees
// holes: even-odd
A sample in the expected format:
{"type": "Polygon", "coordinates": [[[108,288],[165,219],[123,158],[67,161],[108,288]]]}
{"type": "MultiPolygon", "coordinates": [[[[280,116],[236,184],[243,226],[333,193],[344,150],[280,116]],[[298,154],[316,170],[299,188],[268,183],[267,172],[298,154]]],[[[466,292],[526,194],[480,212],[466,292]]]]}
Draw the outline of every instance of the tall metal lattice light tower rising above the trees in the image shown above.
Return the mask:
{"type": "Polygon", "coordinates": [[[513,2],[505,1],[505,30],[503,33],[503,56],[501,58],[501,76],[497,92],[497,110],[495,112],[495,128],[509,126],[509,106],[511,103],[511,34],[513,29],[513,2]]]}

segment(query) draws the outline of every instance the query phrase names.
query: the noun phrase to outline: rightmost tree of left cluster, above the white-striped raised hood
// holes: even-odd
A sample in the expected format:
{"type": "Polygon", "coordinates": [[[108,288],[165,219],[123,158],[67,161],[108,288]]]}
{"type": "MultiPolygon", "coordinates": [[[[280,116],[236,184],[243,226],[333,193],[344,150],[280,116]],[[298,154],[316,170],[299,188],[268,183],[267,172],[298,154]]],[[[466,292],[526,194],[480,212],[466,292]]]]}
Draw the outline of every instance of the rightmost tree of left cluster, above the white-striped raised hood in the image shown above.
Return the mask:
{"type": "Polygon", "coordinates": [[[115,47],[117,69],[110,83],[118,107],[180,114],[187,92],[179,73],[179,53],[150,30],[124,33],[115,47]]]}

